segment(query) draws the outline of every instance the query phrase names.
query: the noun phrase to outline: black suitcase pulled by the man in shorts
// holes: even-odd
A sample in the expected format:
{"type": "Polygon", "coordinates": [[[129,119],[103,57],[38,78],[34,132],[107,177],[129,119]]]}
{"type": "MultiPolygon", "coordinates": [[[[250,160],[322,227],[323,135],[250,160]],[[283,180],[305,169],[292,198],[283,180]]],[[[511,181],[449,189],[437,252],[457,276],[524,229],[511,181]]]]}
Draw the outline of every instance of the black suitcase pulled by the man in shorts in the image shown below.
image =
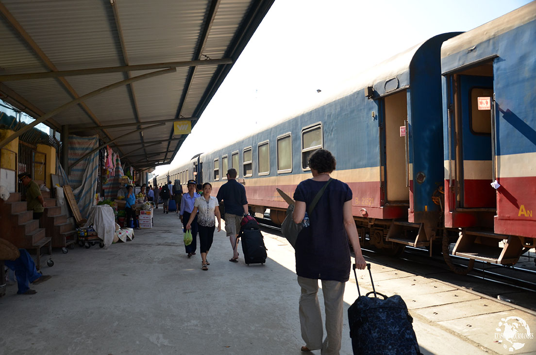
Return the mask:
{"type": "Polygon", "coordinates": [[[264,264],[266,262],[266,247],[264,238],[260,233],[257,221],[251,216],[242,219],[239,238],[242,240],[244,261],[249,264],[264,264]]]}

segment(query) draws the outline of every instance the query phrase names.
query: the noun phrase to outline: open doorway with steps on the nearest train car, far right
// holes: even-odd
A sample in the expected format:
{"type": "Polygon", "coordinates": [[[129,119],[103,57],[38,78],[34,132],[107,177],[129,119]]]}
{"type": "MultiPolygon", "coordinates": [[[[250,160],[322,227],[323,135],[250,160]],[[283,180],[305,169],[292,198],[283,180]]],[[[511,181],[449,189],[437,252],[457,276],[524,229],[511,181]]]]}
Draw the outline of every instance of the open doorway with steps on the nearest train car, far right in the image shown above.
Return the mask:
{"type": "Polygon", "coordinates": [[[456,73],[453,83],[457,218],[452,227],[461,228],[461,233],[452,253],[515,264],[522,248],[519,238],[496,234],[493,229],[497,214],[497,192],[492,186],[496,178],[493,60],[456,73]]]}

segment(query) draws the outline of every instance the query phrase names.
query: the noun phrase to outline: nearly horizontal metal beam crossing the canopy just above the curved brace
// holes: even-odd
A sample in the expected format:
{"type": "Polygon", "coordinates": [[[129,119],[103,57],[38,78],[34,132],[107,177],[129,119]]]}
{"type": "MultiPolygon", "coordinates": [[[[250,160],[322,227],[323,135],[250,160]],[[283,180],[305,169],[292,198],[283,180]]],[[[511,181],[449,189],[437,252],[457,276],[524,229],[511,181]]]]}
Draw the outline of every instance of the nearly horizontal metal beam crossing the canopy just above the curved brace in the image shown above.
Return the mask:
{"type": "MultiPolygon", "coordinates": [[[[1,10],[1,6],[2,4],[0,3],[0,10],[1,10]]],[[[44,78],[61,78],[61,77],[69,77],[69,76],[117,73],[117,72],[138,71],[138,70],[188,68],[190,66],[220,65],[220,64],[232,64],[232,63],[233,63],[232,59],[222,58],[222,59],[207,59],[203,61],[185,61],[185,62],[166,62],[166,63],[152,63],[152,64],[108,66],[105,68],[88,68],[88,69],[61,70],[61,71],[54,70],[54,71],[46,71],[46,72],[40,72],[40,73],[0,75],[0,82],[13,82],[16,80],[44,79],[44,78]]]]}

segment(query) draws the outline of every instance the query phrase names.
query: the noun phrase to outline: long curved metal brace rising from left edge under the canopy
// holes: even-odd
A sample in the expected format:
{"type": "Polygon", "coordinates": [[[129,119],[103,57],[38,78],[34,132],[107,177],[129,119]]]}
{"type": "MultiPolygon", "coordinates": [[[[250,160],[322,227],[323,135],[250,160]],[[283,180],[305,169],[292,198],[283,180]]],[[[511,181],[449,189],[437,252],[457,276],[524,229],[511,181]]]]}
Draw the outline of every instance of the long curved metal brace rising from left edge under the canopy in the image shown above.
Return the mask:
{"type": "Polygon", "coordinates": [[[32,123],[27,124],[22,129],[18,130],[17,132],[14,132],[14,134],[9,136],[8,138],[5,138],[4,140],[2,140],[2,142],[0,142],[0,148],[4,147],[6,144],[11,142],[13,139],[15,139],[17,137],[20,137],[21,135],[25,134],[27,131],[31,130],[32,128],[34,128],[39,123],[42,123],[42,122],[48,120],[50,117],[52,117],[54,115],[57,115],[58,113],[60,113],[63,110],[65,110],[66,108],[74,106],[79,102],[85,101],[85,100],[90,99],[90,98],[92,98],[92,97],[94,97],[96,95],[99,95],[99,94],[105,93],[107,91],[113,90],[114,88],[117,88],[117,87],[121,87],[121,86],[130,84],[130,83],[135,83],[135,82],[137,82],[139,80],[148,79],[148,78],[152,78],[152,77],[167,74],[167,73],[172,73],[172,72],[175,72],[175,71],[176,71],[175,68],[159,70],[159,71],[153,71],[153,72],[150,72],[150,73],[139,75],[137,77],[132,77],[130,79],[121,80],[121,82],[117,82],[117,83],[114,83],[114,84],[111,84],[111,85],[108,85],[108,86],[105,86],[105,87],[101,87],[101,88],[99,88],[99,89],[97,89],[95,91],[92,91],[92,92],[90,92],[88,94],[85,94],[85,95],[79,97],[78,99],[71,100],[70,102],[65,103],[65,105],[59,106],[55,110],[42,115],[41,117],[39,117],[39,119],[36,119],[32,123]]]}

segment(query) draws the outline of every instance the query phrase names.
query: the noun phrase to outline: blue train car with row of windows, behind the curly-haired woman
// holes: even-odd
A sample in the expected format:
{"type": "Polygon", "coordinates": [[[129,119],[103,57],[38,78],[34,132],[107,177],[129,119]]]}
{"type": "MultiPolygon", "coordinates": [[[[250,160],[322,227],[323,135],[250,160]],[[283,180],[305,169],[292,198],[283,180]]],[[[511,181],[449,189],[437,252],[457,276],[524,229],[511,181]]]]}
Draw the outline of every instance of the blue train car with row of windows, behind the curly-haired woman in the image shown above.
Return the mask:
{"type": "Polygon", "coordinates": [[[429,245],[441,218],[434,195],[443,186],[441,45],[457,34],[434,36],[303,113],[169,174],[194,171],[217,193],[236,168],[252,210],[269,208],[280,223],[287,204],[276,188],[292,196],[311,176],[308,157],[324,148],[337,158],[332,176],[352,188],[361,236],[386,250],[429,245]]]}

